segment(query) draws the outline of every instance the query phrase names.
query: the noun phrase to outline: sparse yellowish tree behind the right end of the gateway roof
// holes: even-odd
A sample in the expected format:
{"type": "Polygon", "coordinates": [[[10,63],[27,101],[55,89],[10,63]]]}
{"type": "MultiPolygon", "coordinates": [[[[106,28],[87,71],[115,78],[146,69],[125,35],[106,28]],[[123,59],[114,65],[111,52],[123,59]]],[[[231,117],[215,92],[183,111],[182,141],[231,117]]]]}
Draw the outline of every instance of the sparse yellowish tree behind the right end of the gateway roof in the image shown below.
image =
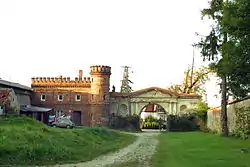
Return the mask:
{"type": "Polygon", "coordinates": [[[208,80],[211,70],[208,67],[194,69],[192,73],[191,67],[185,72],[185,77],[181,84],[171,85],[168,89],[177,93],[196,93],[199,95],[205,94],[204,84],[208,80]]]}

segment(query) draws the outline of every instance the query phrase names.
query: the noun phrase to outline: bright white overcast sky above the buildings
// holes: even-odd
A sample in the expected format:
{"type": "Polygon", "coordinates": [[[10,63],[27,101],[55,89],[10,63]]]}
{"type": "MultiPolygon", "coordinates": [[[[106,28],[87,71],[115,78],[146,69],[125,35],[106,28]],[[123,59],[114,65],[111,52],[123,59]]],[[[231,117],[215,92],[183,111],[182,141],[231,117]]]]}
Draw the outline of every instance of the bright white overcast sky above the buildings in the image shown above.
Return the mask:
{"type": "MultiPolygon", "coordinates": [[[[130,66],[134,90],[180,83],[192,44],[207,34],[208,0],[0,0],[0,78],[30,86],[31,77],[69,76],[109,65],[120,89],[130,66]]],[[[195,67],[203,65],[195,51],[195,67]]],[[[219,104],[212,78],[208,102],[219,104]]]]}

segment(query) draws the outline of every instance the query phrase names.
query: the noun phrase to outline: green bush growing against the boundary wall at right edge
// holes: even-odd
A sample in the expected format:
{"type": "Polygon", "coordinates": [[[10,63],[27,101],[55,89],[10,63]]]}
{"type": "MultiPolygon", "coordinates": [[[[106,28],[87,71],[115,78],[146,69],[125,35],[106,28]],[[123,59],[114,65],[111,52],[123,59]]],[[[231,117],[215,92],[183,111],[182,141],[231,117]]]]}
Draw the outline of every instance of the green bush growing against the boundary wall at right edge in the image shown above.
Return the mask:
{"type": "Polygon", "coordinates": [[[235,107],[236,122],[233,136],[248,139],[250,136],[250,107],[235,107]]]}

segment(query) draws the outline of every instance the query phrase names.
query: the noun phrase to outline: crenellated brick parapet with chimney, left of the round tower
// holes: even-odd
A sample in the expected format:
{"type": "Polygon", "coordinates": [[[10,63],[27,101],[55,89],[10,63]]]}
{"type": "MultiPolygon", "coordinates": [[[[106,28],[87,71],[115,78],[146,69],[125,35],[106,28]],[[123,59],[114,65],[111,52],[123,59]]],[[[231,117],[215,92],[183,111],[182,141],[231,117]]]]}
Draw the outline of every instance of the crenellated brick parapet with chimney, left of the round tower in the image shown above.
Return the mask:
{"type": "Polygon", "coordinates": [[[90,87],[90,77],[82,77],[82,70],[79,70],[79,76],[75,80],[70,77],[33,77],[31,86],[34,87],[90,87]]]}

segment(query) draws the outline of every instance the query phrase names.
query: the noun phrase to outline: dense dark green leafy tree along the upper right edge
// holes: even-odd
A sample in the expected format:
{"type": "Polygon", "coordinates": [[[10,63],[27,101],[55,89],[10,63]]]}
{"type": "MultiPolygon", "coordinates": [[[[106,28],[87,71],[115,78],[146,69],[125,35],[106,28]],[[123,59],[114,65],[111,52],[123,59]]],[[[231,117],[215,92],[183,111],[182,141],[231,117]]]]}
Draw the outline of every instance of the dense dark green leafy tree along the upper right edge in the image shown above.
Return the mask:
{"type": "Polygon", "coordinates": [[[250,92],[250,2],[228,1],[223,7],[223,28],[230,39],[225,49],[230,52],[234,70],[228,80],[229,91],[236,98],[250,92]]]}

